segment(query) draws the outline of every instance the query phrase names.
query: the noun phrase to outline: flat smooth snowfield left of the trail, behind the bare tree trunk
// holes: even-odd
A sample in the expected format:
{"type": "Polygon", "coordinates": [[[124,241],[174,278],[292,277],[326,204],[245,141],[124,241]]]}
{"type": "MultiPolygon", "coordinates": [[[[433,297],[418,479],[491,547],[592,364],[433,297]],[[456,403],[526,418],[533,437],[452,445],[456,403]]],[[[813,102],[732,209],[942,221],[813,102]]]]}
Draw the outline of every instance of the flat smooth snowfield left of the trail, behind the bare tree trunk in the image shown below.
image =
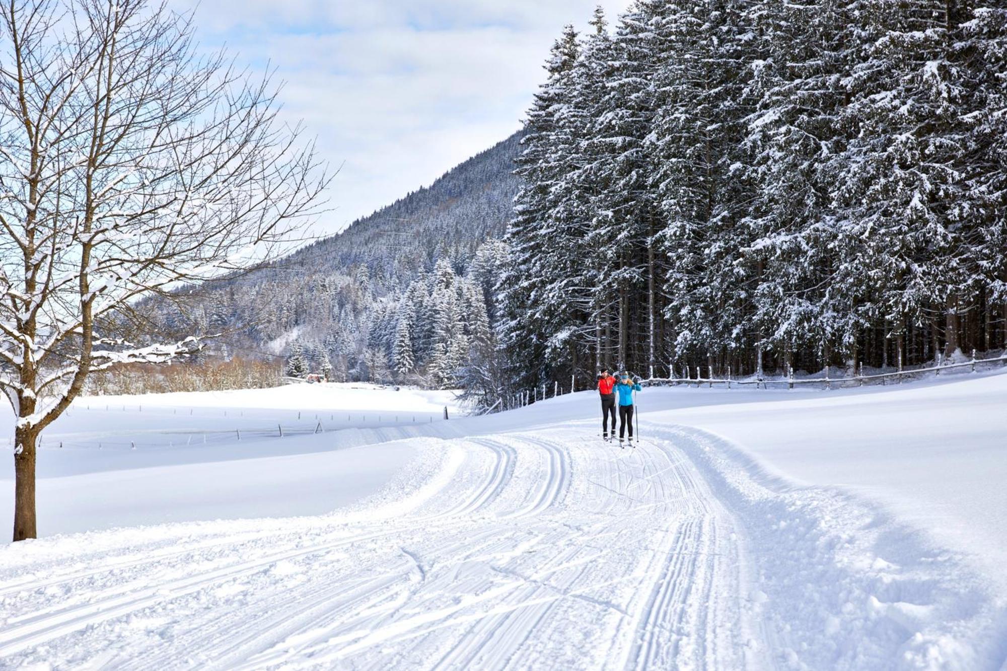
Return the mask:
{"type": "Polygon", "coordinates": [[[365,384],[82,398],[42,436],[39,533],[327,513],[384,487],[416,455],[389,441],[444,407],[459,413],[452,392],[365,384]]]}

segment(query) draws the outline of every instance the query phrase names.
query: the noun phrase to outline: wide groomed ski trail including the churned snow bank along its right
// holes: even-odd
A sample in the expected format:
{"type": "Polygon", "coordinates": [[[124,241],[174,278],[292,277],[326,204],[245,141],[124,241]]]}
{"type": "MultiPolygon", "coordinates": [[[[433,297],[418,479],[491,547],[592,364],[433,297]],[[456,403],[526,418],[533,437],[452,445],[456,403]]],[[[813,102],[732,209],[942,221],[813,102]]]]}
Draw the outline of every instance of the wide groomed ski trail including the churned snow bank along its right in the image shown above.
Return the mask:
{"type": "Polygon", "coordinates": [[[5,548],[0,668],[996,659],[998,612],[950,558],[920,553],[899,566],[875,554],[892,531],[839,494],[772,491],[716,436],[643,428],[649,437],[625,449],[586,422],[426,439],[401,482],[333,515],[5,548]]]}

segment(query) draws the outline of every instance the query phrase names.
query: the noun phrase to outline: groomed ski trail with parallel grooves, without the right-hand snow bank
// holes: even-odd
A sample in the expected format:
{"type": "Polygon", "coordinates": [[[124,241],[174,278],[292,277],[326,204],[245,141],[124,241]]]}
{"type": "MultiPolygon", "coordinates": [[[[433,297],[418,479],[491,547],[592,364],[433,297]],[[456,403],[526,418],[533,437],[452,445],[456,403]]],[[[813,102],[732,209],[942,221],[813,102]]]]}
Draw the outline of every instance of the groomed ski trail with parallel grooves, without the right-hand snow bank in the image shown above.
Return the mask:
{"type": "Polygon", "coordinates": [[[7,569],[0,668],[745,666],[736,523],[681,447],[586,424],[443,444],[455,478],[388,521],[133,535],[7,569]]]}

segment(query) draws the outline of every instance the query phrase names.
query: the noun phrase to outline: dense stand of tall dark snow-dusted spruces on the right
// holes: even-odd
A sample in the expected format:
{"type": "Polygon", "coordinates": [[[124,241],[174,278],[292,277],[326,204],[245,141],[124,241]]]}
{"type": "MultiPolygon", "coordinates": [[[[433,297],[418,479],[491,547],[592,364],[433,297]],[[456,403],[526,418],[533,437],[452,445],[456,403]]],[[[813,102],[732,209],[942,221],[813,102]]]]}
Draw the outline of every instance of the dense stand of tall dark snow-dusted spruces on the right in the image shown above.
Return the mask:
{"type": "Polygon", "coordinates": [[[1004,348],[1007,10],[637,0],[546,70],[497,295],[510,384],[1004,348]]]}

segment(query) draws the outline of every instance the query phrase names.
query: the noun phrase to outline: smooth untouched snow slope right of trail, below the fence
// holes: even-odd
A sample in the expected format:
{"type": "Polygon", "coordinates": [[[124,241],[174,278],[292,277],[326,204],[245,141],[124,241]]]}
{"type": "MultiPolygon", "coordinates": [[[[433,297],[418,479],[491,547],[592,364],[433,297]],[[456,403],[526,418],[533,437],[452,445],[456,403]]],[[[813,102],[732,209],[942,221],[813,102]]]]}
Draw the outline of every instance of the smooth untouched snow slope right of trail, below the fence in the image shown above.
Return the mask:
{"type": "Polygon", "coordinates": [[[731,440],[758,474],[879,502],[939,545],[972,555],[1007,591],[1007,375],[761,396],[680,407],[654,420],[731,440]]]}

